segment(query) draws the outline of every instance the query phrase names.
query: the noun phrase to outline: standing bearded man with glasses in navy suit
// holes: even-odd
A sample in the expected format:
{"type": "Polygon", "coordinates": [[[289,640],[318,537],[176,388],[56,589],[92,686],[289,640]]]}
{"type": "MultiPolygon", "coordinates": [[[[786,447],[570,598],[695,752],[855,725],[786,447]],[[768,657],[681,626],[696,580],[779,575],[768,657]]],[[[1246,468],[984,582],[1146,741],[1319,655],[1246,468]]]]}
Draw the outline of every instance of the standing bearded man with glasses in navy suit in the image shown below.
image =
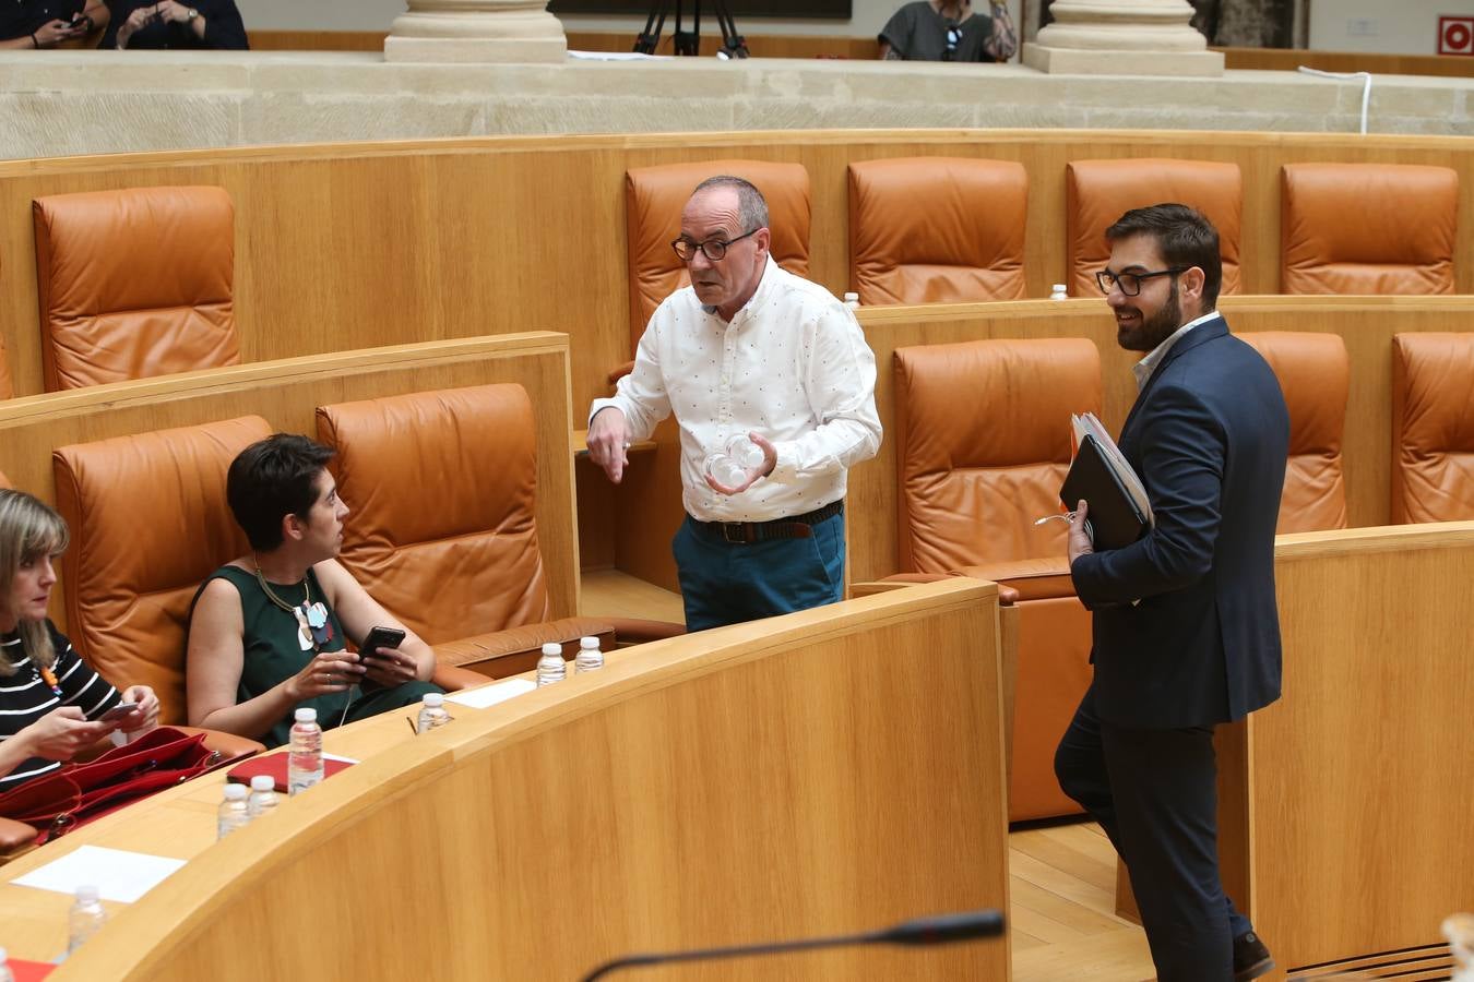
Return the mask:
{"type": "Polygon", "coordinates": [[[1106,239],[1097,278],[1116,340],[1145,355],[1120,449],[1154,526],[1095,552],[1088,502],[1070,523],[1095,676],[1054,769],[1125,860],[1162,982],[1253,979],[1274,961],[1219,877],[1213,727],[1279,698],[1274,546],[1290,417],[1269,365],[1215,311],[1222,264],[1203,215],[1139,208],[1106,239]]]}

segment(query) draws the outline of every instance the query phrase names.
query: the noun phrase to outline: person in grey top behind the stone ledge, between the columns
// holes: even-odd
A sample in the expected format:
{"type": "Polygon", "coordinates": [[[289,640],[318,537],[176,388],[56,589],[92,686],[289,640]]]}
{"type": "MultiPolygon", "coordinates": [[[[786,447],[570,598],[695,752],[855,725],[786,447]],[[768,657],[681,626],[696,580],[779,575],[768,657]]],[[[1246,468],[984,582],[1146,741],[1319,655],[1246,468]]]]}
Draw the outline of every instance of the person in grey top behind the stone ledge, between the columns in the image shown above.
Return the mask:
{"type": "Polygon", "coordinates": [[[915,0],[896,10],[876,38],[880,57],[907,62],[1007,62],[1019,50],[1008,4],[989,13],[968,0],[915,0]]]}

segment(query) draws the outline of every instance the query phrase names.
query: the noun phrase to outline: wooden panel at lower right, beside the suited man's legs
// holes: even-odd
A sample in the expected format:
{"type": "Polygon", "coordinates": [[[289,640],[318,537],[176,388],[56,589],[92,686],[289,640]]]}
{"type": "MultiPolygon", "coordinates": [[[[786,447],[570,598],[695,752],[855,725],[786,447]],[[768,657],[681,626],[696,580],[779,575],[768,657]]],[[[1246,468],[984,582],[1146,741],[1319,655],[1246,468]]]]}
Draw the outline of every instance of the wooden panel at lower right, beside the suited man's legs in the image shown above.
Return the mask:
{"type": "Polygon", "coordinates": [[[1474,908],[1474,523],[1281,536],[1285,698],[1248,718],[1250,914],[1281,967],[1474,908]]]}

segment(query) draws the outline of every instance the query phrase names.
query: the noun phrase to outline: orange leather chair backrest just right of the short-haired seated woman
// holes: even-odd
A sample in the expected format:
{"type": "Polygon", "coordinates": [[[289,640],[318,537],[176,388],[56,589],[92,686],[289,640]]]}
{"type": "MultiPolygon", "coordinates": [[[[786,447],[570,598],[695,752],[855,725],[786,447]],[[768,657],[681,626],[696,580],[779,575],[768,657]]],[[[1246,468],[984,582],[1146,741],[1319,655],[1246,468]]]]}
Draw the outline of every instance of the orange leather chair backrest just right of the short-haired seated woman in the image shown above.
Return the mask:
{"type": "Polygon", "coordinates": [[[352,509],[339,559],[391,614],[432,645],[548,618],[522,386],[321,406],[317,436],[352,509]]]}

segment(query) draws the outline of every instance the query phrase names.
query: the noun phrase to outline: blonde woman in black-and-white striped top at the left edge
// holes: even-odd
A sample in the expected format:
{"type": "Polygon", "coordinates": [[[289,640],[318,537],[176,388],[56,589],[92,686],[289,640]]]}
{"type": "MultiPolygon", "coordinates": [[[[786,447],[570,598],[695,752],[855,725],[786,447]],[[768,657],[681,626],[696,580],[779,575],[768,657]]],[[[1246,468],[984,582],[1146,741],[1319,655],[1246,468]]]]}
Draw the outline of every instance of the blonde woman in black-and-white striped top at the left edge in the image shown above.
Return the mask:
{"type": "Polygon", "coordinates": [[[0,490],[0,792],[53,771],[113,730],[152,730],[149,686],[118,695],[46,617],[66,523],[31,495],[0,490]],[[113,707],[137,708],[103,720],[113,707]]]}

